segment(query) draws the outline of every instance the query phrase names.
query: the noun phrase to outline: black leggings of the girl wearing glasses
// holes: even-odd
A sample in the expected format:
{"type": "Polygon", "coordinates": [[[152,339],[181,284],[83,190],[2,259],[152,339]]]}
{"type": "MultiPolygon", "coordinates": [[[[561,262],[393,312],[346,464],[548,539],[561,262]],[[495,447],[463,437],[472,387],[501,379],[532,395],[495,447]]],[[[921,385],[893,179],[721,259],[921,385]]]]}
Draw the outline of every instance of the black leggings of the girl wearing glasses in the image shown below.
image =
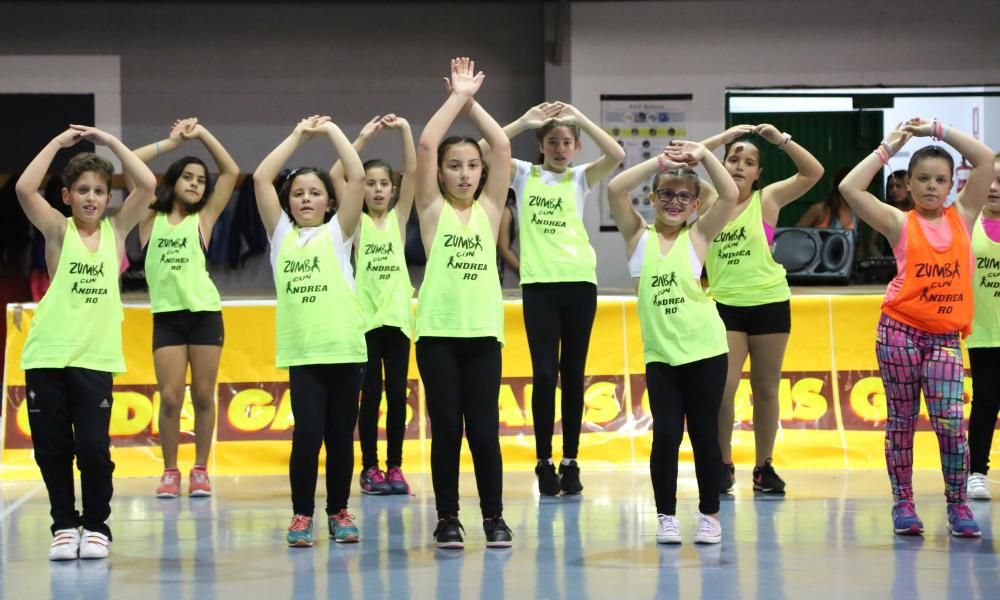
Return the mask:
{"type": "Polygon", "coordinates": [[[649,474],[657,513],[677,512],[677,453],[684,437],[685,417],[694,450],[698,510],[705,515],[719,512],[719,406],[728,362],[727,356],[720,354],[676,367],[646,364],[649,409],[653,413],[649,474]]]}

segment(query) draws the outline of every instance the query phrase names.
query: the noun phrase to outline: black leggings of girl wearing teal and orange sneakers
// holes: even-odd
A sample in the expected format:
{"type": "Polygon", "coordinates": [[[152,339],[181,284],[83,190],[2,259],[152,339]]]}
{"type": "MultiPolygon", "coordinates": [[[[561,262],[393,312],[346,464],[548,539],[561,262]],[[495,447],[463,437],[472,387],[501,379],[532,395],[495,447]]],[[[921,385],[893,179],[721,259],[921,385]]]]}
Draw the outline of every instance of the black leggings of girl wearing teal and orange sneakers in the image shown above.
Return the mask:
{"type": "Polygon", "coordinates": [[[354,426],[364,363],[304,365],[288,369],[295,428],[288,476],[292,510],[312,516],[316,508],[319,449],[326,444],[326,514],[347,508],[354,471],[354,426]]]}

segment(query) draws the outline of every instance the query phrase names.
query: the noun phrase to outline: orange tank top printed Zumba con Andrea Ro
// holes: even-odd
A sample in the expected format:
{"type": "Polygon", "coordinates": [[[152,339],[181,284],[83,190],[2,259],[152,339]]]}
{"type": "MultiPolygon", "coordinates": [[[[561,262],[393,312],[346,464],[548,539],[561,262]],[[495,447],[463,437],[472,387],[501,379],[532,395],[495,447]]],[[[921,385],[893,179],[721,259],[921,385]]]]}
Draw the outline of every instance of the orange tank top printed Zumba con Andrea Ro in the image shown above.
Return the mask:
{"type": "Polygon", "coordinates": [[[972,330],[972,258],[969,232],[954,206],[944,210],[951,245],[936,250],[915,211],[906,215],[906,271],[899,292],[882,303],[897,321],[930,333],[972,330]]]}

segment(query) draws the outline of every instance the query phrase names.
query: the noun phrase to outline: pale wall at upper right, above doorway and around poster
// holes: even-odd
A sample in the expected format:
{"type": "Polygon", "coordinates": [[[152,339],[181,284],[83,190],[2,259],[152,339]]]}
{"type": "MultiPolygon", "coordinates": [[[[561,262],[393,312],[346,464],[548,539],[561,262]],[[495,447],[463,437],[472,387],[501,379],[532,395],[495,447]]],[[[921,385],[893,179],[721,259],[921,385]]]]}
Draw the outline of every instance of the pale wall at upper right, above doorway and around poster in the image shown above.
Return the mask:
{"type": "MultiPolygon", "coordinates": [[[[572,102],[601,93],[694,95],[691,132],[722,128],[734,87],[1000,83],[1000,2],[930,0],[583,2],[572,14],[572,102]],[[945,14],[947,10],[947,14],[945,14]]],[[[998,115],[1000,118],[1000,115],[998,115]]],[[[585,144],[577,162],[596,156],[585,144]]],[[[623,244],[587,225],[604,287],[629,288],[623,244]]]]}

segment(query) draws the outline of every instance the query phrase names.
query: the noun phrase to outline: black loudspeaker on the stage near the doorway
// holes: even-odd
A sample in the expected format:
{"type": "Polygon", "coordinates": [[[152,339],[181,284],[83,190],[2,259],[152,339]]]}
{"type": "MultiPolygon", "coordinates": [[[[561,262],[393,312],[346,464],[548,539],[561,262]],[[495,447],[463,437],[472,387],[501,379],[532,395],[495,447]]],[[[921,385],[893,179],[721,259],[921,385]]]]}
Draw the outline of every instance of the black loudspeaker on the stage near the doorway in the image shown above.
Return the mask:
{"type": "Polygon", "coordinates": [[[779,227],[772,253],[785,267],[789,283],[847,284],[854,265],[854,231],[779,227]]]}

